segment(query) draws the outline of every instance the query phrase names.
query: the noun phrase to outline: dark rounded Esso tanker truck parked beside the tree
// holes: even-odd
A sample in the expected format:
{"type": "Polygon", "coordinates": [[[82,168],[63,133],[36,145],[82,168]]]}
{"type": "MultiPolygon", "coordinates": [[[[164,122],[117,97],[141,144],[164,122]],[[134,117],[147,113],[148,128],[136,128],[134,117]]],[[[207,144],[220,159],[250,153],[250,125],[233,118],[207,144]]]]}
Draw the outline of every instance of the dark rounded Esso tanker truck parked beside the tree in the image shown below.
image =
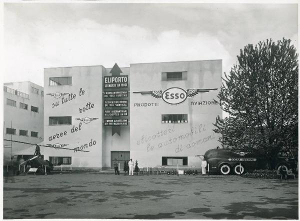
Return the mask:
{"type": "Polygon", "coordinates": [[[209,163],[209,172],[219,172],[222,175],[234,173],[240,175],[246,170],[253,169],[280,169],[286,170],[297,167],[297,159],[286,151],[278,152],[277,156],[268,160],[258,152],[244,152],[231,149],[209,149],[204,154],[209,163]]]}

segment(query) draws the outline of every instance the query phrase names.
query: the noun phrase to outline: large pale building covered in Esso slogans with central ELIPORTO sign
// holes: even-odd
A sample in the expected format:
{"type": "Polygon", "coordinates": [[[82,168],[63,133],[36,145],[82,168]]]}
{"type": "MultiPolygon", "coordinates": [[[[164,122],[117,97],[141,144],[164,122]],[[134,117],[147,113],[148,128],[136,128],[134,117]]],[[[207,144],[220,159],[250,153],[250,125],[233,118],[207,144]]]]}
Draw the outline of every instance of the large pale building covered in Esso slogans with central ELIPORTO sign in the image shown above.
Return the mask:
{"type": "Polygon", "coordinates": [[[139,167],[200,167],[195,155],[219,145],[212,123],[222,114],[216,91],[221,65],[202,60],[45,68],[43,143],[74,150],[43,147],[44,159],[104,169],[117,158],[120,170],[130,158],[139,167]]]}

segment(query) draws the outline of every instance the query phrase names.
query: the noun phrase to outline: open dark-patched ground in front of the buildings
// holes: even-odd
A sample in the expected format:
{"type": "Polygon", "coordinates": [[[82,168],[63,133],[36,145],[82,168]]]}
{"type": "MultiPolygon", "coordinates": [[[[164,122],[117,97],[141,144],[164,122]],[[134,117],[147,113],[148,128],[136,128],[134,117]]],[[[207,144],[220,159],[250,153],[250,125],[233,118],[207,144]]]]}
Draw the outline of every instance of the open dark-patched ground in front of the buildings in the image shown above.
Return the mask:
{"type": "Polygon", "coordinates": [[[298,218],[297,179],[64,173],[3,185],[5,219],[298,218]]]}

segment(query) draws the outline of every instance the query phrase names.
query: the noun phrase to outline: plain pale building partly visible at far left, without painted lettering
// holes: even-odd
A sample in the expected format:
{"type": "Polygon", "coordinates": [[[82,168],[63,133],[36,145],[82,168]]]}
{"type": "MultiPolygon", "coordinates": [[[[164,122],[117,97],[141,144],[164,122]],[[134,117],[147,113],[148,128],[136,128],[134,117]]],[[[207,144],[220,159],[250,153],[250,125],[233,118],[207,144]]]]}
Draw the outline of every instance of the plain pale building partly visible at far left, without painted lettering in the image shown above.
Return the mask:
{"type": "MultiPolygon", "coordinates": [[[[4,83],[4,139],[40,143],[43,141],[43,87],[35,83],[4,83]]],[[[11,153],[28,144],[4,141],[4,165],[11,163],[11,153]]],[[[34,149],[32,153],[33,154],[34,149]]]]}

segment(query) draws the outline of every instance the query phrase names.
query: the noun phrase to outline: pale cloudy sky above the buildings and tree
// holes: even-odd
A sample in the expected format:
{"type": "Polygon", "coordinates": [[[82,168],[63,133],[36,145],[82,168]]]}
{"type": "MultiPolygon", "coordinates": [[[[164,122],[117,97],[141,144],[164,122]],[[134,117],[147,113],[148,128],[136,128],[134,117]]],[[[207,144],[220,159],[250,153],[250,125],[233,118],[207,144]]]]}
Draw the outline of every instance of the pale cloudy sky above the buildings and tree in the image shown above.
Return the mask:
{"type": "Polygon", "coordinates": [[[4,3],[4,82],[43,86],[43,68],[222,59],[282,37],[297,47],[296,4],[4,3]]]}

